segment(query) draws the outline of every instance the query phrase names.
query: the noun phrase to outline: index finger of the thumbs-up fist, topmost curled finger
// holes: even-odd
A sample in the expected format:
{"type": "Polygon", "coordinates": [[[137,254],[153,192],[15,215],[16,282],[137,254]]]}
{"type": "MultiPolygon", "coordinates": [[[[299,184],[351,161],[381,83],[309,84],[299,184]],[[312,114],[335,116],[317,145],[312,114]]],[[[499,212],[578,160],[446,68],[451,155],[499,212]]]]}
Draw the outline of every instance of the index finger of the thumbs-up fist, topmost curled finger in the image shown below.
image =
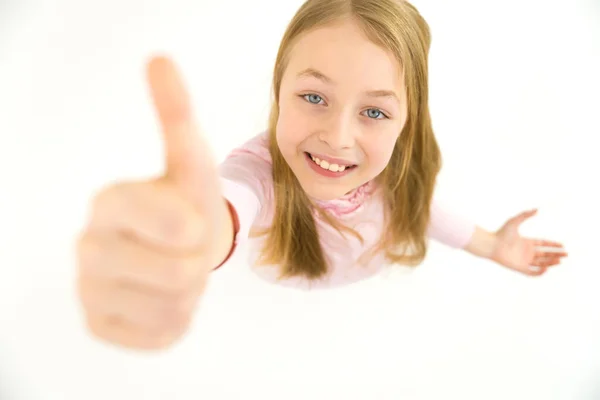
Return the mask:
{"type": "Polygon", "coordinates": [[[162,181],[123,183],[94,199],[88,230],[124,232],[159,249],[198,250],[206,221],[162,181]]]}

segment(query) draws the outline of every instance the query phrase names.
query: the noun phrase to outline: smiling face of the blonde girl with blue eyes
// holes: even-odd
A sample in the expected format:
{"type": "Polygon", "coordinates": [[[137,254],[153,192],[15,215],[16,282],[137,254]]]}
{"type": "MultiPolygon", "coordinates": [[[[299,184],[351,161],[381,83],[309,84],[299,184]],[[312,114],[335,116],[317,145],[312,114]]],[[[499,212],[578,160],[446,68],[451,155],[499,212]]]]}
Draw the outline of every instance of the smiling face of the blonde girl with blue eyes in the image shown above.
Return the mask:
{"type": "Polygon", "coordinates": [[[307,194],[332,200],[383,171],[406,114],[401,66],[348,20],[296,42],[277,143],[307,194]]]}

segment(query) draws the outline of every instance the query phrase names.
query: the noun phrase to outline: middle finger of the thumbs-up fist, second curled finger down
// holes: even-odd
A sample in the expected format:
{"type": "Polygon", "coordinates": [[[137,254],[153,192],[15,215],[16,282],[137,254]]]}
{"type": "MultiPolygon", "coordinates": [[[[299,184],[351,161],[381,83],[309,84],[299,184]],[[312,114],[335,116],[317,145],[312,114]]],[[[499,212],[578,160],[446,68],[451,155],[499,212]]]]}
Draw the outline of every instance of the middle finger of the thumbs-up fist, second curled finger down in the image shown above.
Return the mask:
{"type": "Polygon", "coordinates": [[[84,234],[77,246],[84,278],[103,278],[147,286],[164,293],[188,292],[205,279],[209,265],[203,254],[178,257],[148,248],[135,240],[109,234],[84,234]]]}

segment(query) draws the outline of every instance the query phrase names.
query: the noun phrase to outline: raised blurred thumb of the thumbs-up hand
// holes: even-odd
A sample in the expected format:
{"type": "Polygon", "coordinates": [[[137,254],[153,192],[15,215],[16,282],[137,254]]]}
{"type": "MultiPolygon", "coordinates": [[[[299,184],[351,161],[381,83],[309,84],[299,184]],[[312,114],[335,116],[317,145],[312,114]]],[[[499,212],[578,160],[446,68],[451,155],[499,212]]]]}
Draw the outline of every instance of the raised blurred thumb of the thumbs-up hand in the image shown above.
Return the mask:
{"type": "Polygon", "coordinates": [[[201,209],[214,210],[222,202],[217,166],[194,120],[183,79],[162,56],[150,60],[147,78],[163,134],[165,178],[201,209]]]}

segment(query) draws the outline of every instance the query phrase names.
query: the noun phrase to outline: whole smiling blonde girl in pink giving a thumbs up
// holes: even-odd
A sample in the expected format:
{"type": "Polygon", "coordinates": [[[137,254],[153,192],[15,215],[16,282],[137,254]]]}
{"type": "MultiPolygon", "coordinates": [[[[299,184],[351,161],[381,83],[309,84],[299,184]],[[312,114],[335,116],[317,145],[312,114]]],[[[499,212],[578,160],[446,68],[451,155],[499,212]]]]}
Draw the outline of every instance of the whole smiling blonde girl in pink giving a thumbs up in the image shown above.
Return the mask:
{"type": "Polygon", "coordinates": [[[130,347],[172,343],[209,272],[248,238],[258,274],[305,288],[417,265],[429,237],[528,275],[558,264],[561,244],[518,233],[536,210],[487,232],[435,202],[429,45],[406,1],[308,0],[277,54],[267,131],[218,167],[173,65],[154,59],[167,172],[96,199],[79,243],[92,332],[130,347]]]}

